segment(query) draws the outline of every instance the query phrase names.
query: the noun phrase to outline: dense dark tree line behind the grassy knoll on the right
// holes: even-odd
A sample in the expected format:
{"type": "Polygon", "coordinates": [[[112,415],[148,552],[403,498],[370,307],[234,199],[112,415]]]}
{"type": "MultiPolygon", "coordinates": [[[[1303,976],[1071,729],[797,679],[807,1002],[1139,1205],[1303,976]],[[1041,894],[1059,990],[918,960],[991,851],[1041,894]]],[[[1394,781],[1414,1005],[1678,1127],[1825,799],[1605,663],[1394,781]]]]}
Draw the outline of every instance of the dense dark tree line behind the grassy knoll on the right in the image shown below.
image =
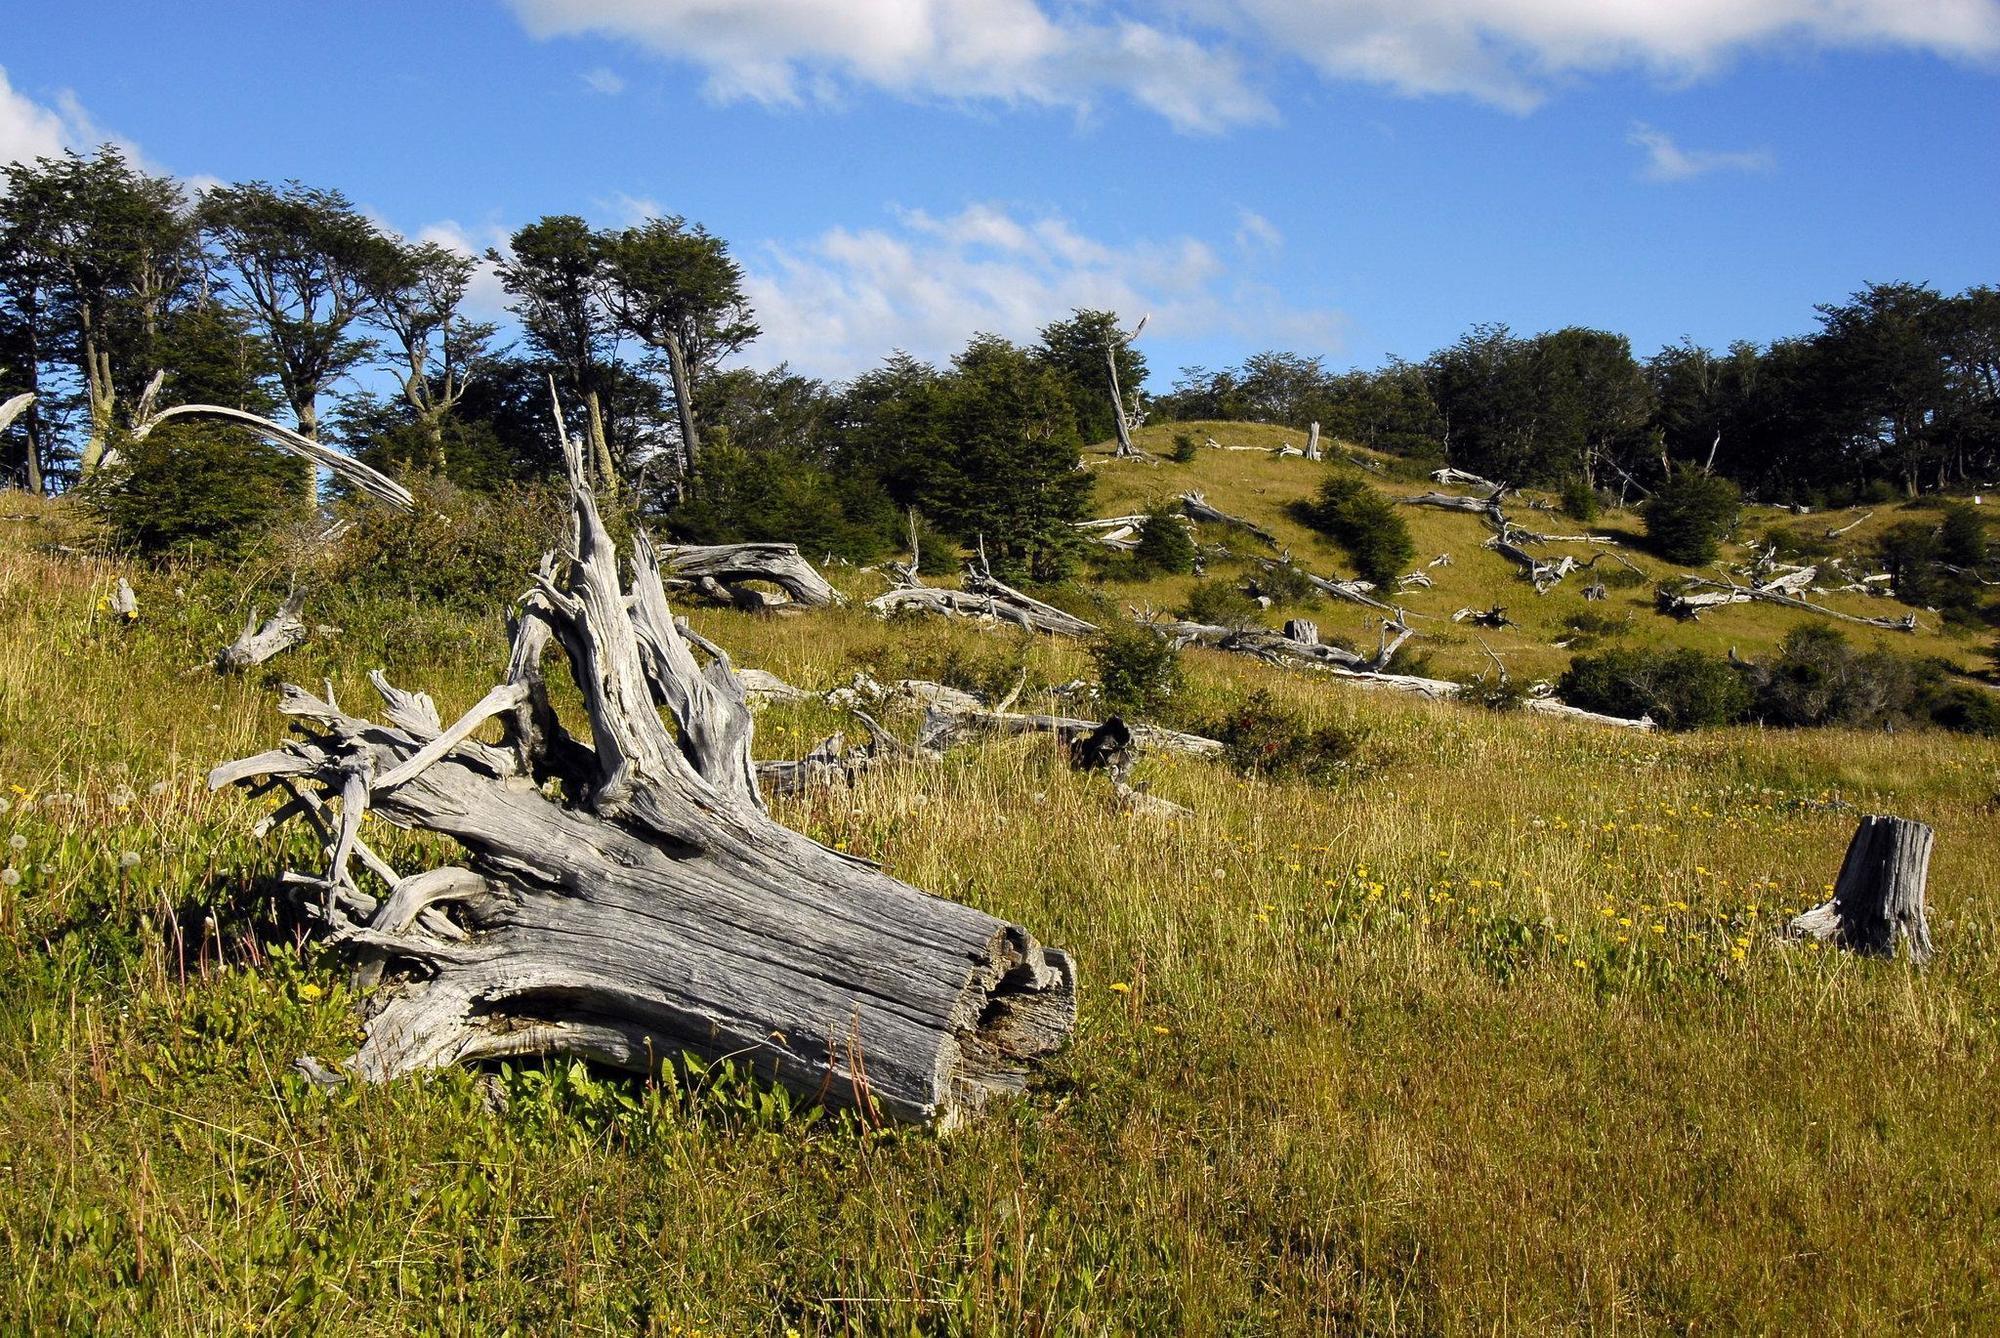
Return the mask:
{"type": "Polygon", "coordinates": [[[1812,334],[1722,352],[1682,342],[1646,360],[1604,330],[1506,326],[1378,370],[1266,352],[1186,368],[1152,410],[1318,420],[1378,450],[1628,500],[1678,466],[1768,502],[1916,494],[2000,478],[2000,290],[1874,284],[1822,306],[1812,334]]]}

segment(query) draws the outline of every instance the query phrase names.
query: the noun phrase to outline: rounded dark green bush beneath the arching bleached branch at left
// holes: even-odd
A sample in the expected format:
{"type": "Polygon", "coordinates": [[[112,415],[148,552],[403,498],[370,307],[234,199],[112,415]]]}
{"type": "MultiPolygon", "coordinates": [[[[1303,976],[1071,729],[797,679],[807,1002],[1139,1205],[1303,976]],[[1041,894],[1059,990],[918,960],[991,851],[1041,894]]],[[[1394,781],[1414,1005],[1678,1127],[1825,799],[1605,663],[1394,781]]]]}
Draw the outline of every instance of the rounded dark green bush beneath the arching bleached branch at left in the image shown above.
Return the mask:
{"type": "Polygon", "coordinates": [[[242,432],[170,422],[118,442],[116,474],[88,490],[112,544],[146,558],[236,558],[304,516],[300,464],[242,432]]]}

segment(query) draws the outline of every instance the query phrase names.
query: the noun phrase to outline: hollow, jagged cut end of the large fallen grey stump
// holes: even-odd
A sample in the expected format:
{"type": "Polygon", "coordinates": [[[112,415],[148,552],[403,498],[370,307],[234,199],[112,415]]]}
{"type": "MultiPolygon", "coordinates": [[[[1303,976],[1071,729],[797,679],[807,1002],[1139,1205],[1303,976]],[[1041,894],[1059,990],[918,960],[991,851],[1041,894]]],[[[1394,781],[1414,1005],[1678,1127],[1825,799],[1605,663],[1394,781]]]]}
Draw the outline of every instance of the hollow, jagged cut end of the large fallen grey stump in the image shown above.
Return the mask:
{"type": "Polygon", "coordinates": [[[1020,926],[988,944],[954,1008],[954,1038],[938,1050],[938,1128],[976,1116],[994,1096],[1022,1092],[1028,1072],[1076,1030],[1076,962],[1020,926]]]}

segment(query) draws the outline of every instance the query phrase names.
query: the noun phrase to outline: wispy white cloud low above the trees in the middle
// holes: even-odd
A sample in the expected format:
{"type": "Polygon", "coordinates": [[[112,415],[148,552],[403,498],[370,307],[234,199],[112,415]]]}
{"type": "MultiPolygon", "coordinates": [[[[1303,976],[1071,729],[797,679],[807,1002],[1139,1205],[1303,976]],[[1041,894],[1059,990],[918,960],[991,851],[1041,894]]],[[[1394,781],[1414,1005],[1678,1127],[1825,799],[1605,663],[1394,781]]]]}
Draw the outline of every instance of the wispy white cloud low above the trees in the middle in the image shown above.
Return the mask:
{"type": "Polygon", "coordinates": [[[890,226],[832,228],[804,244],[744,252],[764,336],[748,358],[814,376],[854,376],[892,348],[944,360],[978,332],[1032,340],[1074,308],[1152,312],[1148,338],[1234,334],[1312,350],[1340,342],[1328,310],[1290,306],[1234,278],[1196,238],[1090,238],[1058,214],[974,204],[952,216],[894,214],[890,226]]]}

